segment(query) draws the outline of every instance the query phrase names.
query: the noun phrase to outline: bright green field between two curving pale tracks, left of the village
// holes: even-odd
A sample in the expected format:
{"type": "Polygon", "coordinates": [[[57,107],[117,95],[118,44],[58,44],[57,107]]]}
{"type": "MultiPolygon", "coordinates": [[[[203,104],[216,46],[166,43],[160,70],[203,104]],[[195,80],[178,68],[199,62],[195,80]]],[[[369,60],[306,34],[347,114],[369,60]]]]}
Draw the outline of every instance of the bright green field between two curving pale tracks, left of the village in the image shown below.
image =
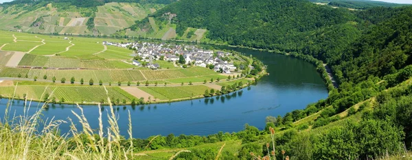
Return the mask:
{"type": "Polygon", "coordinates": [[[30,53],[34,55],[54,55],[55,53],[66,51],[67,46],[71,46],[68,41],[47,40],[45,43],[46,44],[38,46],[30,53]]]}

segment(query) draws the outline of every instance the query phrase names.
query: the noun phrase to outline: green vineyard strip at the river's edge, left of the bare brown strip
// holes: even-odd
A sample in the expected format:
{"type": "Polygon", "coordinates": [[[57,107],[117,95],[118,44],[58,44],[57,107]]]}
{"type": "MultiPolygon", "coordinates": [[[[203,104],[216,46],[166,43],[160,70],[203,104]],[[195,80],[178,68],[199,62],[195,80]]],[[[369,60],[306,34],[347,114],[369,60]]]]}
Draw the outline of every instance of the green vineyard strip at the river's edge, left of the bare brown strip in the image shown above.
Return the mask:
{"type": "MultiPolygon", "coordinates": [[[[134,96],[117,87],[107,87],[108,97],[112,101],[119,99],[130,103],[134,96]]],[[[46,94],[49,98],[55,98],[56,101],[64,100],[67,103],[100,103],[102,100],[107,103],[107,95],[104,87],[101,86],[17,86],[15,98],[24,98],[32,100],[44,100],[46,94]]],[[[11,97],[14,93],[14,86],[0,87],[0,94],[11,97]]],[[[136,98],[135,98],[136,99],[136,98]]]]}

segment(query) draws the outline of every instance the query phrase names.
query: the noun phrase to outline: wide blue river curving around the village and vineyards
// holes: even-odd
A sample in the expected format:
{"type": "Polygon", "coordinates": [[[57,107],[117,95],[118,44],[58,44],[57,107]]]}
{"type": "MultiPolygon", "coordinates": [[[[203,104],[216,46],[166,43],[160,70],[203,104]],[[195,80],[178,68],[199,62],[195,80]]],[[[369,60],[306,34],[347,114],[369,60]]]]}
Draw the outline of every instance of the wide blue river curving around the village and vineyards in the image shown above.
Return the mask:
{"type": "MultiPolygon", "coordinates": [[[[128,112],[132,118],[133,137],[147,138],[150,135],[209,135],[223,132],[237,132],[244,124],[264,129],[266,116],[277,116],[304,109],[308,104],[328,97],[328,90],[316,68],[301,59],[251,49],[231,48],[253,55],[268,65],[270,75],[262,77],[256,85],[224,96],[202,98],[176,103],[142,106],[118,106],[116,111],[120,133],[128,137],[128,112]]],[[[0,101],[5,110],[8,100],[0,101]]],[[[34,114],[38,103],[32,103],[26,114],[34,114]]],[[[99,108],[83,106],[84,115],[93,129],[98,129],[99,108]]],[[[104,126],[108,125],[104,107],[104,126]]],[[[14,101],[11,115],[23,115],[23,101],[14,101]]],[[[43,111],[42,118],[67,120],[78,119],[71,111],[80,113],[74,105],[50,105],[43,111]]],[[[3,120],[5,111],[0,111],[3,120]]],[[[68,121],[68,120],[67,120],[68,121]]],[[[78,127],[81,127],[77,124],[78,127]]],[[[69,131],[69,124],[60,126],[61,133],[69,131]]]]}

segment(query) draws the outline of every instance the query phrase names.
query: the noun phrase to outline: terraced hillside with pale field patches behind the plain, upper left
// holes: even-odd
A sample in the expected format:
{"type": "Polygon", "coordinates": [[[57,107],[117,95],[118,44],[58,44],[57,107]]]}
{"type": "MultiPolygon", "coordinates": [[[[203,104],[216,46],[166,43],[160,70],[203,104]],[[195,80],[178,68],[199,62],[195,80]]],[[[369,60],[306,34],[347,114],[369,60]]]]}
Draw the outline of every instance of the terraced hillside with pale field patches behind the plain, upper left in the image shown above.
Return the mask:
{"type": "Polygon", "coordinates": [[[42,34],[111,35],[130,27],[155,10],[160,3],[76,3],[13,1],[1,5],[0,29],[42,34]],[[101,4],[101,5],[98,5],[101,4]],[[95,6],[97,5],[97,6],[95,6]]]}

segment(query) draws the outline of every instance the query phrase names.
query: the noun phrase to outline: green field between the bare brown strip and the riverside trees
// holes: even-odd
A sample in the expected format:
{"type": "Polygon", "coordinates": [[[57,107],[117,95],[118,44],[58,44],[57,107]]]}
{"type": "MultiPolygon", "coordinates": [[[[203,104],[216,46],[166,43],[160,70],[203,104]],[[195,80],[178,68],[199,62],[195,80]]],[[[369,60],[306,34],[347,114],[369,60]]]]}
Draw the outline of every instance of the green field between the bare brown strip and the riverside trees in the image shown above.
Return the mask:
{"type": "Polygon", "coordinates": [[[205,90],[210,90],[211,88],[208,88],[206,85],[183,85],[179,87],[139,87],[139,89],[161,100],[171,100],[202,96],[205,90]]]}

